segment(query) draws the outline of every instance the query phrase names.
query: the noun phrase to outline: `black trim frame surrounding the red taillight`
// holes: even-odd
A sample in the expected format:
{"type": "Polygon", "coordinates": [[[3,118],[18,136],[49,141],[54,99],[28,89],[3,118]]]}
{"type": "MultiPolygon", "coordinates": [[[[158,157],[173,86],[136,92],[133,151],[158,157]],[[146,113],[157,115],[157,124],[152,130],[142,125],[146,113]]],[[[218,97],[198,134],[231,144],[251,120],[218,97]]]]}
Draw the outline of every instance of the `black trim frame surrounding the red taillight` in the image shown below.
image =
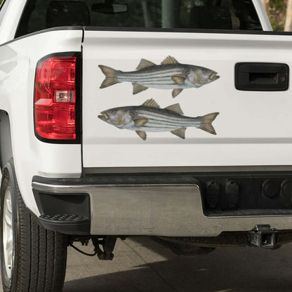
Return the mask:
{"type": "Polygon", "coordinates": [[[36,84],[36,72],[37,67],[40,62],[52,58],[52,57],[58,57],[58,56],[65,56],[65,57],[76,57],[77,63],[76,63],[76,103],[75,103],[75,114],[76,114],[76,139],[75,140],[63,140],[63,139],[47,139],[41,137],[38,133],[36,133],[36,124],[35,124],[35,91],[34,91],[34,99],[33,99],[33,108],[34,108],[34,135],[38,140],[41,142],[51,143],[51,144],[81,144],[81,120],[82,120],[82,114],[81,114],[81,105],[82,105],[82,92],[81,92],[81,85],[82,85],[82,58],[80,52],[62,52],[62,53],[52,53],[49,55],[44,56],[41,58],[37,64],[36,64],[36,70],[34,74],[34,86],[36,84]]]}

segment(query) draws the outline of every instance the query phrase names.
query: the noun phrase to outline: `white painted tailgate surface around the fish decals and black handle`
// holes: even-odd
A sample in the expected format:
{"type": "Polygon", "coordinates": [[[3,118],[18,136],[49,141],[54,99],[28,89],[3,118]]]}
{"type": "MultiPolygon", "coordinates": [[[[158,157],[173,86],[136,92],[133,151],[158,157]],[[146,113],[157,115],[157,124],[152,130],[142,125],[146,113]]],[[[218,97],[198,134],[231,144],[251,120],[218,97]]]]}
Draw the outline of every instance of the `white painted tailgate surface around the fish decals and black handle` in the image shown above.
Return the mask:
{"type": "MultiPolygon", "coordinates": [[[[82,113],[84,167],[291,165],[291,88],[284,88],[283,91],[278,91],[277,88],[286,84],[285,78],[288,79],[288,74],[285,75],[282,71],[286,68],[285,64],[289,67],[292,64],[291,40],[291,36],[272,34],[85,30],[82,113]],[[178,60],[184,65],[208,68],[206,74],[218,72],[220,79],[206,84],[201,80],[203,86],[198,88],[190,87],[190,84],[190,88],[183,88],[182,82],[185,81],[187,86],[190,80],[182,79],[181,72],[172,69],[169,74],[173,74],[175,78],[171,77],[171,80],[183,89],[175,98],[172,97],[170,85],[162,78],[162,73],[151,73],[154,74],[151,78],[156,79],[156,85],[152,88],[141,91],[145,88],[135,85],[135,90],[141,91],[135,95],[131,84],[138,83],[135,72],[130,76],[119,77],[117,84],[114,84],[114,76],[110,75],[113,73],[107,72],[109,79],[101,86],[105,74],[99,65],[122,72],[133,72],[141,59],[160,65],[168,56],[174,58],[168,58],[168,63],[178,60]],[[260,65],[272,62],[284,66],[276,66],[275,70],[279,71],[276,73],[269,64],[260,66],[260,69],[257,69],[256,64],[243,69],[240,81],[247,80],[251,87],[257,87],[257,83],[262,84],[265,91],[239,91],[235,86],[235,67],[239,62],[260,65]],[[160,87],[157,86],[159,80],[160,87]],[[269,86],[270,89],[267,89],[269,86]],[[157,131],[152,131],[150,119],[145,119],[144,116],[135,117],[136,120],[131,121],[132,126],[124,128],[98,118],[100,112],[105,112],[105,117],[108,118],[109,111],[106,110],[117,107],[129,112],[125,116],[128,119],[133,119],[132,110],[137,115],[137,111],[152,107],[153,118],[159,110],[154,102],[145,103],[151,98],[160,106],[156,117],[159,120],[157,124],[160,123],[157,131]],[[161,110],[176,103],[180,105],[183,114],[178,107],[161,110]],[[143,106],[138,107],[141,105],[143,106]],[[170,112],[173,110],[175,113],[172,116],[170,112]],[[213,121],[217,135],[202,131],[197,128],[198,125],[194,126],[196,123],[191,123],[190,126],[190,123],[186,124],[190,121],[178,119],[182,116],[202,117],[213,112],[220,113],[213,121]],[[161,114],[168,114],[167,118],[173,121],[164,120],[161,114]],[[187,128],[185,139],[178,137],[183,137],[181,130],[175,131],[169,126],[176,119],[179,120],[177,128],[187,128]],[[135,131],[139,126],[142,128],[137,135],[135,131]],[[145,138],[145,126],[149,126],[151,131],[147,131],[147,139],[142,140],[145,138]],[[166,131],[167,127],[170,131],[166,131]],[[175,135],[171,133],[173,131],[175,135]]],[[[149,67],[150,64],[144,61],[140,68],[149,67]]],[[[106,70],[107,68],[104,69],[106,70]]]]}

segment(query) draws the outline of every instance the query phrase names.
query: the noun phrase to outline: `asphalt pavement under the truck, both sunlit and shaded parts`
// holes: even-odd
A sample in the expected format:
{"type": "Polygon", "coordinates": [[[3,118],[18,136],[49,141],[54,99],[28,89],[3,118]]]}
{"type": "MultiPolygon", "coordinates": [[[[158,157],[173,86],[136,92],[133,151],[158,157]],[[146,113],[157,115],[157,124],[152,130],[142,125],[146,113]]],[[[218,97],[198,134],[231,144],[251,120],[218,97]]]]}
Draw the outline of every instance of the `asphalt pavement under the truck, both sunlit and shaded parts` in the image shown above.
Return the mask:
{"type": "Polygon", "coordinates": [[[114,254],[105,262],[69,248],[64,292],[292,291],[292,244],[275,251],[218,248],[200,258],[178,258],[159,241],[133,237],[118,240],[114,254]]]}

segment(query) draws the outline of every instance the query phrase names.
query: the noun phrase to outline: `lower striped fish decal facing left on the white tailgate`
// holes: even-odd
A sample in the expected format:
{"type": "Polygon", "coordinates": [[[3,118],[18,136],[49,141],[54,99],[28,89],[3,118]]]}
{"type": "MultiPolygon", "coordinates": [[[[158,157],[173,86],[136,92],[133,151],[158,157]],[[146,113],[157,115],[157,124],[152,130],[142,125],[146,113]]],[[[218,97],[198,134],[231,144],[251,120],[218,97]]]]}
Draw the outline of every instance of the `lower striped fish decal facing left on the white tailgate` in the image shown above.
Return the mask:
{"type": "Polygon", "coordinates": [[[157,102],[151,99],[140,106],[105,110],[98,117],[117,128],[135,131],[142,140],[146,140],[146,132],[167,131],[185,139],[187,127],[201,128],[201,130],[216,135],[212,122],[218,114],[219,112],[213,112],[202,117],[185,117],[178,103],[161,109],[157,102]]]}

